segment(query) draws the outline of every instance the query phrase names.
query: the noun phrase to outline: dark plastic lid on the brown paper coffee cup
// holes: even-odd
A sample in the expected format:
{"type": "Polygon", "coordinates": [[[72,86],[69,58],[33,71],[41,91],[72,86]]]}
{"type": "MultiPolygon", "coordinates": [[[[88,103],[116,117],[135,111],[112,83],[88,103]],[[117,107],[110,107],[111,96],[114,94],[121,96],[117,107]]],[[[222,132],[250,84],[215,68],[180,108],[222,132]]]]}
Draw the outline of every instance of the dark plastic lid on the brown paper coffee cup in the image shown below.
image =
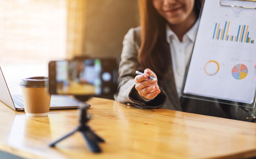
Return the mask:
{"type": "Polygon", "coordinates": [[[49,78],[44,76],[23,78],[20,87],[46,87],[48,80],[49,78]]]}

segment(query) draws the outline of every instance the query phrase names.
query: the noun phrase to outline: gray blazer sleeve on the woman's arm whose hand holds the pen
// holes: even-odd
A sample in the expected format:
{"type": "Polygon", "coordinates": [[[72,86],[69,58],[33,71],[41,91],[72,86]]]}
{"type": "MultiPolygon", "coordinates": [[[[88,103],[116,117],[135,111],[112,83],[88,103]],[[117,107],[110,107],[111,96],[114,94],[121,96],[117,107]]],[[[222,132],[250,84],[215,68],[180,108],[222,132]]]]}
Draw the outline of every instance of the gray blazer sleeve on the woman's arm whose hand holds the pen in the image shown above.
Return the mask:
{"type": "Polygon", "coordinates": [[[139,51],[139,28],[132,28],[128,31],[123,41],[121,62],[119,64],[118,91],[115,100],[123,103],[130,103],[141,109],[154,109],[162,107],[167,99],[166,94],[160,88],[161,93],[153,100],[146,100],[138,94],[135,89],[135,71],[139,68],[137,54],[139,51]]]}

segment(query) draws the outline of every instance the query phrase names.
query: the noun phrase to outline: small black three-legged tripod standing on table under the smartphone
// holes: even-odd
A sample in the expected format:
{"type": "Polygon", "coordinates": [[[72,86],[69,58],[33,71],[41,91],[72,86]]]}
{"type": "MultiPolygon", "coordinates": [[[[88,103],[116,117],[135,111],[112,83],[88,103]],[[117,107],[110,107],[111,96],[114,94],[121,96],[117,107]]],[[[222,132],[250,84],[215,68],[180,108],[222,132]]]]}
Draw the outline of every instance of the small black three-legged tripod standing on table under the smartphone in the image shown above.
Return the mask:
{"type": "Polygon", "coordinates": [[[56,140],[55,142],[52,142],[49,146],[55,147],[55,145],[58,142],[61,142],[63,139],[73,135],[76,133],[76,131],[80,131],[83,134],[83,137],[85,138],[89,149],[94,153],[101,152],[101,148],[99,147],[99,142],[105,142],[101,137],[99,137],[97,134],[95,134],[90,127],[87,125],[87,122],[90,120],[90,116],[87,114],[87,108],[80,107],[80,125],[72,132],[68,133],[67,135],[61,137],[60,139],[56,140]]]}

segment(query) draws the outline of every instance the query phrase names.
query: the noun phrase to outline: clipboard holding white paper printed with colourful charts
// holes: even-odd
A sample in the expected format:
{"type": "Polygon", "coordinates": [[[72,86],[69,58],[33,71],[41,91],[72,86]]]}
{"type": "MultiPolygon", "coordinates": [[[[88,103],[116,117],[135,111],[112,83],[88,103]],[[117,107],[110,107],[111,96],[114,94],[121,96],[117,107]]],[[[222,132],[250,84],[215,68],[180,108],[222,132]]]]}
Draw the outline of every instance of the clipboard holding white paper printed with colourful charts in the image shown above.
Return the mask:
{"type": "Polygon", "coordinates": [[[256,0],[204,0],[182,94],[231,106],[256,101],[256,0]]]}

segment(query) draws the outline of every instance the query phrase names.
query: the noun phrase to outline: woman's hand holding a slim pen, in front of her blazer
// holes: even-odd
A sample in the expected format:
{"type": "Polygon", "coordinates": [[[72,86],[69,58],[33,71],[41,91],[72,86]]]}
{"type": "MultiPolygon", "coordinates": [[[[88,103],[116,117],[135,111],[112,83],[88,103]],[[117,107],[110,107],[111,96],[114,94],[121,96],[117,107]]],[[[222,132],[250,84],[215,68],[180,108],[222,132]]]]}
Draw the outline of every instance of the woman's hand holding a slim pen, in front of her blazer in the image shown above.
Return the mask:
{"type": "Polygon", "coordinates": [[[153,99],[160,93],[160,89],[157,85],[157,80],[151,80],[148,76],[152,76],[157,79],[155,73],[147,68],[144,70],[144,74],[137,75],[134,78],[135,89],[137,89],[139,95],[142,97],[146,99],[153,99]]]}

